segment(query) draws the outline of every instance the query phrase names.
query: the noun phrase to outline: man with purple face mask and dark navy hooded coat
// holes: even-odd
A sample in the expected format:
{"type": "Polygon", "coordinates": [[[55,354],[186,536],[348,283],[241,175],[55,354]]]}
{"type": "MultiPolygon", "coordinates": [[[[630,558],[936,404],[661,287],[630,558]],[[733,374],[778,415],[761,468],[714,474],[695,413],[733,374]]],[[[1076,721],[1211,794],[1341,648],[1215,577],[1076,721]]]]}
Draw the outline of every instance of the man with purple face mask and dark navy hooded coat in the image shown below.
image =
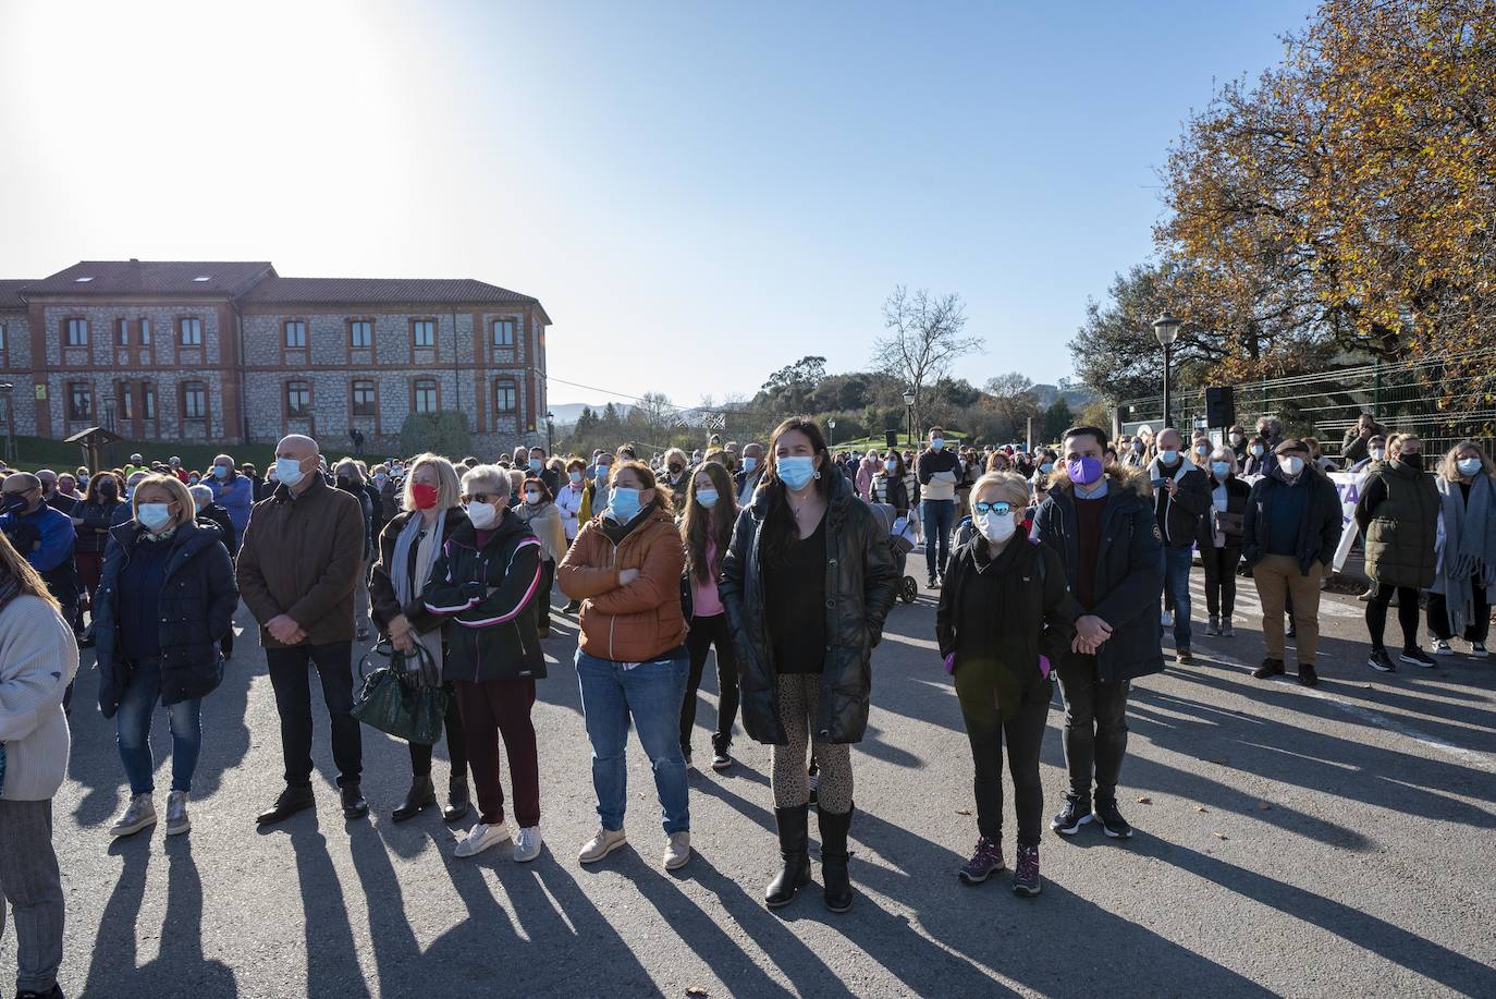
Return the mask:
{"type": "Polygon", "coordinates": [[[1104,430],[1071,427],[1061,448],[1065,466],[1040,503],[1034,533],[1061,554],[1083,613],[1056,669],[1070,794],[1050,828],[1073,836],[1094,819],[1107,836],[1126,839],[1132,827],[1118,809],[1126,695],[1132,680],[1164,668],[1156,619],[1162,538],[1146,479],[1106,467],[1104,430]]]}

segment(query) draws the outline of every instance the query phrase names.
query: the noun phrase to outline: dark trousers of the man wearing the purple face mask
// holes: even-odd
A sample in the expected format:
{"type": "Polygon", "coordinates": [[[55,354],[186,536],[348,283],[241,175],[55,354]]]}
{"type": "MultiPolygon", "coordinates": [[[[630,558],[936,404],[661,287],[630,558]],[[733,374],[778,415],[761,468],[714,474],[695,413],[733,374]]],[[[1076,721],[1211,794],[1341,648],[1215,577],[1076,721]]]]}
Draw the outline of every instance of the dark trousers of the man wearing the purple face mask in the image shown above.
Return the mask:
{"type": "Polygon", "coordinates": [[[1097,801],[1115,801],[1122,758],[1126,755],[1126,695],[1132,687],[1097,680],[1097,658],[1065,653],[1059,664],[1059,692],[1065,698],[1065,764],[1070,792],[1097,801]]]}

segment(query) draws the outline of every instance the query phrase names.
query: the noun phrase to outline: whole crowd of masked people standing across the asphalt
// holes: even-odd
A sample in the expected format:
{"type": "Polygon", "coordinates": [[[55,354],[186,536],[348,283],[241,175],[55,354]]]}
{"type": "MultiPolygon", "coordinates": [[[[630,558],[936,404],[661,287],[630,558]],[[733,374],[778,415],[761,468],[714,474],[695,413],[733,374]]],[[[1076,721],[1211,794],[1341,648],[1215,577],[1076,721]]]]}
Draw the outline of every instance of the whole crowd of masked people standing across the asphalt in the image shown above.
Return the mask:
{"type": "MultiPolygon", "coordinates": [[[[693,454],[555,457],[516,448],[492,463],[422,454],[368,466],[329,461],[292,434],[263,475],[227,455],[193,472],[178,458],[75,473],[6,470],[0,514],[0,891],[15,912],[19,992],[58,996],[63,896],[51,798],[69,750],[66,714],[81,647],[93,647],[99,708],[114,717],[129,798],[112,836],[157,824],[150,728],[168,713],[172,783],[166,833],[190,830],[202,749],[200,708],[233,653],[242,601],[259,625],[280,716],[284,789],[262,825],[314,804],[316,671],[332,732],[340,804],[370,810],[355,717],[355,643],[377,632],[401,662],[434,666],[446,696],[447,794],[432,746],[410,743],[410,789],[395,821],[441,804],[476,815],[458,857],[512,843],[543,849],[531,710],[545,680],[552,620],[574,616],[576,675],[598,827],[583,864],[627,843],[625,749],[649,758],[664,840],[661,864],[691,860],[687,773],[697,690],[715,652],[718,710],[711,767],[730,771],[741,713],[772,746],[782,866],[769,906],[811,879],[809,813],[821,843],[824,903],[854,900],[848,836],[850,747],[866,734],[871,659],[901,590],[895,532],[923,539],[938,590],[935,637],[971,744],[977,846],[957,872],[978,884],[1007,869],[1002,756],[1017,818],[1013,890],[1041,890],[1040,746],[1053,684],[1064,701],[1070,791],[1050,819],[1074,836],[1132,828],[1118,804],[1131,683],[1191,664],[1191,572],[1204,571],[1207,635],[1233,638],[1237,578],[1263,607],[1266,658],[1285,672],[1294,640],[1300,683],[1318,681],[1321,584],[1340,547],[1334,463],[1313,437],[1284,437],[1275,418],[1219,439],[1165,427],[1110,440],[1067,430],[1056,448],[971,446],[935,427],[916,448],[833,452],[815,421],[785,419],[767,443],[712,437],[693,454]],[[890,514],[884,518],[880,511],[890,514]],[[552,599],[560,590],[565,604],[552,599]],[[500,782],[509,758],[510,794],[500,782]],[[506,809],[507,804],[507,809],[506,809]],[[510,816],[512,812],[512,816],[510,816]],[[515,833],[510,833],[510,818],[515,833]]],[[[1397,661],[1486,656],[1496,596],[1496,479],[1462,440],[1435,466],[1423,442],[1370,418],[1342,460],[1366,472],[1355,529],[1372,581],[1367,664],[1394,669],[1384,646],[1396,601],[1397,661]],[[1432,473],[1430,473],[1432,472],[1432,473]]],[[[3,911],[0,911],[3,912],[3,911]]]]}

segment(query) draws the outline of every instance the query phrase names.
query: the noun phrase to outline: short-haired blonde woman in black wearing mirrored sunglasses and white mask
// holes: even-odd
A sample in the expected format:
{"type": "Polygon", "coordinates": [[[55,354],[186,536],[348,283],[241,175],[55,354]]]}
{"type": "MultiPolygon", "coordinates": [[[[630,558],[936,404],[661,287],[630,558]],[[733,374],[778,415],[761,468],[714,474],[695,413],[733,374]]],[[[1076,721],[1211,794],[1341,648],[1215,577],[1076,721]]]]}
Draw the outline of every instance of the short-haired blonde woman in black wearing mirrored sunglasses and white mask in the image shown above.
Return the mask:
{"type": "Polygon", "coordinates": [[[1053,696],[1050,664],[1070,649],[1080,605],[1070,596],[1059,554],[1022,532],[1028,484],[989,472],[971,490],[977,536],[950,559],[935,635],[971,740],[975,765],[977,849],[957,872],[980,884],[1004,870],[1002,743],[1007,737],[1017,812],[1013,890],[1040,893],[1038,843],[1044,791],[1038,756],[1053,696]]]}

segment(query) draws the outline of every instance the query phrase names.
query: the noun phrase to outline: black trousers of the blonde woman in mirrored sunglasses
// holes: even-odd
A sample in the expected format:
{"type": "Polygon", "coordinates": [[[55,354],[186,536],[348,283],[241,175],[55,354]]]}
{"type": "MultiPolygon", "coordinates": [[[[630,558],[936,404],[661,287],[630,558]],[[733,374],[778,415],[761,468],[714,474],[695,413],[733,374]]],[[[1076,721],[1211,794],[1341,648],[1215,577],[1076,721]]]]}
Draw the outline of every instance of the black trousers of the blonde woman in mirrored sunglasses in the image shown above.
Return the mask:
{"type": "Polygon", "coordinates": [[[1019,846],[1038,846],[1044,824],[1044,785],[1038,777],[1038,750],[1049,720],[1049,701],[1020,702],[1007,719],[996,711],[963,710],[962,714],[966,720],[966,738],[971,741],[971,786],[977,795],[977,830],[993,843],[1002,842],[1002,740],[1007,737],[1013,810],[1019,818],[1019,846]]]}

